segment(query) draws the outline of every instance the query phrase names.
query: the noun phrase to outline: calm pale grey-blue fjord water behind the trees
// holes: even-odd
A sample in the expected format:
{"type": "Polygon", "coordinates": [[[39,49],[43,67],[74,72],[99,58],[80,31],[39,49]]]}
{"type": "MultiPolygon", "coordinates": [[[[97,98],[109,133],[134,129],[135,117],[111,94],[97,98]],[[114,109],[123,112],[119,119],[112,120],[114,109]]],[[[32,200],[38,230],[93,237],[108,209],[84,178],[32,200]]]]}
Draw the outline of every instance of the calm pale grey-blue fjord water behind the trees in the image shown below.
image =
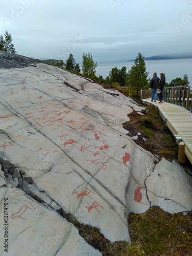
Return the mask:
{"type": "MultiPolygon", "coordinates": [[[[109,72],[115,67],[121,69],[125,66],[128,72],[131,70],[133,64],[134,61],[97,63],[96,76],[101,75],[103,78],[106,78],[106,76],[109,76],[109,72]]],[[[152,78],[154,72],[157,72],[158,76],[160,73],[165,73],[166,82],[169,83],[177,77],[183,79],[183,76],[186,74],[190,82],[189,85],[192,87],[192,58],[145,60],[145,66],[148,72],[148,78],[152,78]]]]}

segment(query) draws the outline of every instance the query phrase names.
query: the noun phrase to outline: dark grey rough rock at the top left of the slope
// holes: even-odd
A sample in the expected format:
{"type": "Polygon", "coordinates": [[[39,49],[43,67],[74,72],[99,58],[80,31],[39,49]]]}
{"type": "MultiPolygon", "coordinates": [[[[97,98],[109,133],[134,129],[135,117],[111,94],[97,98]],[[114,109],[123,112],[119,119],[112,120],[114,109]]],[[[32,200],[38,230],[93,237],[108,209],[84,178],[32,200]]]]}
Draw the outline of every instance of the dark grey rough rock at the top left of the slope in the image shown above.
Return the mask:
{"type": "Polygon", "coordinates": [[[35,66],[37,60],[4,51],[0,51],[0,69],[23,68],[27,66],[35,66]]]}

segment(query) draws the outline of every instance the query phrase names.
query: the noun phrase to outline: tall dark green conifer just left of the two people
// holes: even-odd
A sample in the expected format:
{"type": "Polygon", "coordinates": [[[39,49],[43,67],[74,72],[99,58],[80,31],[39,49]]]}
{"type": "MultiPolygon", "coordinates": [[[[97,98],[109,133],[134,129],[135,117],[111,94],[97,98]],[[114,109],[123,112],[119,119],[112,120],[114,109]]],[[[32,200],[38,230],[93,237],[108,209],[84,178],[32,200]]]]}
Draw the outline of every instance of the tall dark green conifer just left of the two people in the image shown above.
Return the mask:
{"type": "Polygon", "coordinates": [[[134,96],[139,96],[139,90],[146,86],[147,76],[144,57],[139,53],[125,80],[125,85],[134,96]]]}

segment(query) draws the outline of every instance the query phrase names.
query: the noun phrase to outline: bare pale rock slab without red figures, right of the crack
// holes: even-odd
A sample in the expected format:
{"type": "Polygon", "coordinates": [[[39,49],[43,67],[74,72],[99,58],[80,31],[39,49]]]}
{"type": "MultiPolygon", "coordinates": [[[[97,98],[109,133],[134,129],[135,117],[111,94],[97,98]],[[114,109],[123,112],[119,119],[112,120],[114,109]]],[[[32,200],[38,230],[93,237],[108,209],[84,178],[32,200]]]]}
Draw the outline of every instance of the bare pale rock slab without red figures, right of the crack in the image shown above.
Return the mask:
{"type": "Polygon", "coordinates": [[[190,211],[192,209],[192,177],[180,166],[162,159],[146,179],[148,199],[164,211],[190,211]]]}

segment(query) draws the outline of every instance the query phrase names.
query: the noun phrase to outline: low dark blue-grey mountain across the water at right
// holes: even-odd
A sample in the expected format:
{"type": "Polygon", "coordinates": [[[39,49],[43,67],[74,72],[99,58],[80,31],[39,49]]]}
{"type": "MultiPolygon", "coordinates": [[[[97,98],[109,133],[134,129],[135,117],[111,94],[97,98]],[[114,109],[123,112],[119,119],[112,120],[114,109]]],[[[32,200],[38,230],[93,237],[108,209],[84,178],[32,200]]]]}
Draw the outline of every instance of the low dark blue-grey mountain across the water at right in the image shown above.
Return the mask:
{"type": "MultiPolygon", "coordinates": [[[[192,53],[170,53],[170,54],[154,55],[151,57],[144,57],[144,60],[183,59],[183,58],[192,58],[192,53]]],[[[134,61],[134,60],[135,59],[130,59],[128,61],[134,61]]]]}

